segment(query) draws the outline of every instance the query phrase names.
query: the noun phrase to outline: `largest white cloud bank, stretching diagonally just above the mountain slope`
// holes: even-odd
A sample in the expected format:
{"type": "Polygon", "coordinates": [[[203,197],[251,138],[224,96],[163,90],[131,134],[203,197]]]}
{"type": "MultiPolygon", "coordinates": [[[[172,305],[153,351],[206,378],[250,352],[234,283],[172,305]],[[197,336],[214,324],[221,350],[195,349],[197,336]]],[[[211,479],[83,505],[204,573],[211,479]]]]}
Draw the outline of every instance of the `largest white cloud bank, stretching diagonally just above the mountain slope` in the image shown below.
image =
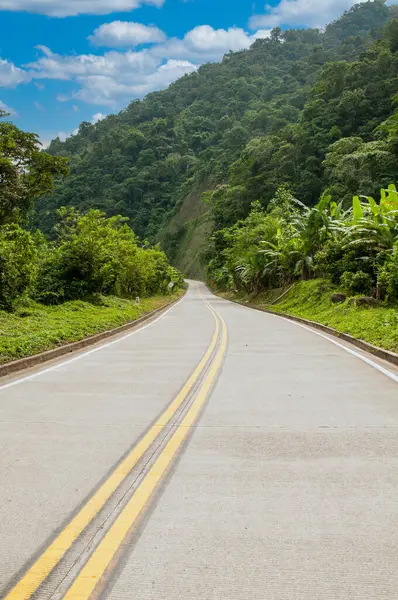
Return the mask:
{"type": "Polygon", "coordinates": [[[183,39],[173,38],[140,51],[110,50],[102,55],[63,56],[46,46],[38,46],[42,56],[26,68],[34,80],[69,80],[79,85],[72,94],[59,94],[60,102],[80,100],[115,108],[164,89],[204,62],[220,60],[229,50],[248,48],[255,39],[267,37],[269,33],[269,30],[260,30],[250,35],[235,27],[225,30],[202,25],[189,31],[183,39]]]}

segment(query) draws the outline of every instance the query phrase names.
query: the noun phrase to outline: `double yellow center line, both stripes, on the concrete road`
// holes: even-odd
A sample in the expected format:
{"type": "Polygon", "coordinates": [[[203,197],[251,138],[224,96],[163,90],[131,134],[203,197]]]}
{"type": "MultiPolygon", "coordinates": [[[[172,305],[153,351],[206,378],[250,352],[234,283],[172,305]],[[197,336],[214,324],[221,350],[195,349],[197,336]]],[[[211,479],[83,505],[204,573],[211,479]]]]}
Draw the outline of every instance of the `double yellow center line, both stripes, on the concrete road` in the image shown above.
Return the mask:
{"type": "Polygon", "coordinates": [[[207,306],[215,319],[215,331],[209,348],[182,390],[140,442],[131,450],[126,458],[123,459],[120,465],[70,521],[65,529],[63,529],[63,531],[61,531],[55,540],[48,546],[14,588],[11,589],[4,600],[29,600],[39,586],[50,575],[80,534],[104,507],[112,494],[126,479],[133,467],[143,457],[161,431],[182,406],[195,384],[203,375],[209,360],[213,356],[213,353],[217,348],[221,329],[221,338],[216,354],[200,384],[195,400],[189,411],[164,447],[156,462],[143,478],[130,501],[119,514],[112,527],[106,533],[88,562],[80,571],[74,583],[64,596],[64,600],[83,600],[90,597],[127,533],[134,525],[152,493],[155,491],[158,483],[171,466],[177,451],[198,418],[221,369],[227,348],[227,328],[222,317],[218,315],[210,305],[207,304],[207,306]]]}

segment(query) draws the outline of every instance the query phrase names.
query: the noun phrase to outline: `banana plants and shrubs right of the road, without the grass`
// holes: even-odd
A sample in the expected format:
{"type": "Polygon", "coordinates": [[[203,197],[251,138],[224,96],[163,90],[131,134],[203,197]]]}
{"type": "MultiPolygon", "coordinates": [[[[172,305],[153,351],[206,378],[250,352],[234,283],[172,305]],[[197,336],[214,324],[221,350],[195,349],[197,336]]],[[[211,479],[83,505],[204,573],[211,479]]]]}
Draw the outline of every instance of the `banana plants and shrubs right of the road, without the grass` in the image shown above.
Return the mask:
{"type": "Polygon", "coordinates": [[[323,195],[309,208],[280,189],[268,210],[217,231],[209,248],[208,279],[221,289],[258,293],[316,275],[350,294],[397,298],[398,192],[380,201],[354,196],[349,209],[323,195]]]}

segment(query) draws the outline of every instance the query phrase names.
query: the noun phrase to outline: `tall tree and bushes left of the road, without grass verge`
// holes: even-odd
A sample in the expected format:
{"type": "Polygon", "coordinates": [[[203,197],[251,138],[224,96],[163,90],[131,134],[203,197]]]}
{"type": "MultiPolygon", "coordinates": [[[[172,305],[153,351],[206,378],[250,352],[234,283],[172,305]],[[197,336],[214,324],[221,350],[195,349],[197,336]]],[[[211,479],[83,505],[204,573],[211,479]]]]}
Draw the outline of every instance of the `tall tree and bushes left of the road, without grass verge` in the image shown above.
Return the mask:
{"type": "Polygon", "coordinates": [[[43,305],[169,293],[182,283],[158,247],[141,243],[120,215],[107,218],[72,207],[53,215],[52,239],[27,229],[34,202],[68,174],[67,159],[41,151],[37,135],[5,120],[0,110],[0,310],[21,299],[43,305]]]}

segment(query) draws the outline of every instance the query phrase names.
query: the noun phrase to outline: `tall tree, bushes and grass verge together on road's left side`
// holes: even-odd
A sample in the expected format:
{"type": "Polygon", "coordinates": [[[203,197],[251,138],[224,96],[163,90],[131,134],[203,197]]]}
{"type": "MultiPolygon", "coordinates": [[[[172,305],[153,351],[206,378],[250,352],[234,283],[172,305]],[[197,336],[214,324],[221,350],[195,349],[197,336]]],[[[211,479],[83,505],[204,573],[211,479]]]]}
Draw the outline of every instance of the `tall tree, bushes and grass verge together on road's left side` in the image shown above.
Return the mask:
{"type": "Polygon", "coordinates": [[[124,217],[61,208],[50,238],[26,228],[34,201],[68,165],[5,116],[0,109],[0,363],[115,328],[178,297],[181,273],[124,217]]]}

